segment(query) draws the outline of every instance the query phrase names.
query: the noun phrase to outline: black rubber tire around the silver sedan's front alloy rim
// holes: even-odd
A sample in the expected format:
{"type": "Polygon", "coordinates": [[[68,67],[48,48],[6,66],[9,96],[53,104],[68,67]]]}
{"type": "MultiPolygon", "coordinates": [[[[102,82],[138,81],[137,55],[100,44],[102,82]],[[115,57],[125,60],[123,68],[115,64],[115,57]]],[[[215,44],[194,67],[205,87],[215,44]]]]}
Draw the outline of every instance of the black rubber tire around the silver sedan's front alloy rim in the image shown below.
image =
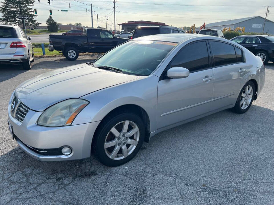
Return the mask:
{"type": "MultiPolygon", "coordinates": [[[[120,126],[120,124],[118,124],[118,126],[120,126]]],[[[117,128],[118,132],[120,132],[117,126],[116,126],[116,128],[117,128]]],[[[131,128],[129,128],[129,130],[131,130],[131,128]]],[[[99,125],[97,132],[94,136],[94,140],[92,142],[92,151],[94,152],[97,159],[102,164],[109,166],[109,167],[116,167],[116,166],[122,165],[122,164],[130,161],[137,154],[137,152],[142,147],[142,144],[144,142],[144,136],[145,136],[145,127],[144,127],[144,122],[142,121],[142,119],[137,114],[131,113],[129,111],[124,111],[123,113],[120,113],[120,114],[108,116],[106,119],[104,119],[101,122],[101,124],[99,125]],[[132,151],[132,153],[130,153],[127,157],[124,157],[123,159],[119,159],[119,160],[110,159],[110,157],[108,157],[108,155],[106,154],[105,149],[104,149],[105,140],[108,137],[110,130],[114,126],[116,126],[119,122],[122,122],[125,120],[130,120],[138,126],[138,128],[139,128],[138,144],[136,145],[136,147],[132,151]]],[[[114,135],[113,135],[113,137],[115,139],[114,135]]],[[[117,138],[117,140],[118,140],[118,138],[117,138]]],[[[122,142],[122,139],[120,139],[120,140],[121,141],[119,141],[119,142],[122,142]]],[[[116,145],[113,146],[113,150],[114,150],[115,146],[116,145]]],[[[109,148],[111,149],[112,147],[109,147],[109,148]]],[[[130,148],[128,148],[128,149],[130,149],[130,148]]],[[[119,149],[119,152],[121,153],[122,149],[119,149]]],[[[115,156],[118,156],[119,152],[115,156]]]]}

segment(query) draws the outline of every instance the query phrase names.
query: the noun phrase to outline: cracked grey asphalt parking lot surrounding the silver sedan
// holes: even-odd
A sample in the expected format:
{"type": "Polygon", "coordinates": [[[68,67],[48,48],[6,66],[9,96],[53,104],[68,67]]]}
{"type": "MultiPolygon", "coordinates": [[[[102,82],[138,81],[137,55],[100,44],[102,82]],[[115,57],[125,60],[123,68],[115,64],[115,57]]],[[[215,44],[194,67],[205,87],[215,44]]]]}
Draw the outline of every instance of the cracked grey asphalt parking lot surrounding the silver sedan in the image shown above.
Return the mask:
{"type": "Polygon", "coordinates": [[[21,82],[97,56],[40,58],[31,70],[0,65],[0,204],[273,204],[274,63],[257,101],[166,130],[130,162],[101,165],[93,156],[41,162],[12,140],[8,101],[21,82]]]}

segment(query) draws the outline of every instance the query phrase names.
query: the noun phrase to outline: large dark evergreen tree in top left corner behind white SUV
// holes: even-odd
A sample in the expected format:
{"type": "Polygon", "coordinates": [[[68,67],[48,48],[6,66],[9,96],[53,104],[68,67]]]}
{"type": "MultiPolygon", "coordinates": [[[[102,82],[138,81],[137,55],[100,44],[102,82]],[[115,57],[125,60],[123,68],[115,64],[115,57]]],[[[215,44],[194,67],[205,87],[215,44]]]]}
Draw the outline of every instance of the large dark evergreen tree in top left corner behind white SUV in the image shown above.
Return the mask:
{"type": "Polygon", "coordinates": [[[25,24],[28,26],[36,27],[41,23],[35,20],[37,15],[32,10],[35,0],[3,0],[0,7],[1,18],[0,21],[4,24],[23,24],[22,19],[18,19],[18,16],[29,16],[29,19],[25,20],[25,24]]]}

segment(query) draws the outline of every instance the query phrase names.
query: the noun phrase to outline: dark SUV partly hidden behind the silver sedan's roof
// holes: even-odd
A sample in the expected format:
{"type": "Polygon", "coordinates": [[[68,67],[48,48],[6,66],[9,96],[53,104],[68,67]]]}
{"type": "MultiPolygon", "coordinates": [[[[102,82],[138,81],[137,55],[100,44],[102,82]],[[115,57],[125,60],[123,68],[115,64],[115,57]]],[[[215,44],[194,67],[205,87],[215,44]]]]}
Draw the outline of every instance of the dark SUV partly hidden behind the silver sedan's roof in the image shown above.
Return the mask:
{"type": "Polygon", "coordinates": [[[133,34],[132,38],[138,38],[141,36],[149,36],[155,34],[168,34],[168,33],[186,33],[183,29],[172,26],[138,26],[133,34]]]}

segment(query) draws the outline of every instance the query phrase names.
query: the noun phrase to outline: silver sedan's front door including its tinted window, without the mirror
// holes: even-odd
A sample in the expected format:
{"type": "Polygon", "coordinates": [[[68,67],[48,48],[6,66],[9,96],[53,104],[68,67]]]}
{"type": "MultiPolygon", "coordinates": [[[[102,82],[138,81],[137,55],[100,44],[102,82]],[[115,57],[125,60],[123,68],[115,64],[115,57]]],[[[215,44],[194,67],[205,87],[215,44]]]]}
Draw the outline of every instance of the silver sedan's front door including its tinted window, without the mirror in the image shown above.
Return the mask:
{"type": "Polygon", "coordinates": [[[208,43],[197,41],[184,46],[169,63],[158,83],[158,129],[211,110],[214,75],[208,54],[208,43]],[[190,75],[183,79],[163,77],[175,66],[189,69],[190,75]]]}

